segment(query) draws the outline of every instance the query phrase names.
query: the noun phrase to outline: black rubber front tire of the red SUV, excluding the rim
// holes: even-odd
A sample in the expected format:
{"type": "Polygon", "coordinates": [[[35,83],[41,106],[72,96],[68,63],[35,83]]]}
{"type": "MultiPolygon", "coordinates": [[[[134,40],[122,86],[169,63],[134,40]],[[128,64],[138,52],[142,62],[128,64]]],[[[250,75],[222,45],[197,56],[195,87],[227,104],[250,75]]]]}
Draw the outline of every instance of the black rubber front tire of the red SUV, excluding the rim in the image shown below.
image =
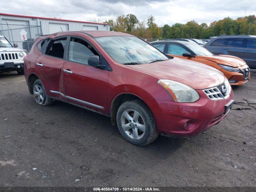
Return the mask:
{"type": "MultiPolygon", "coordinates": [[[[130,142],[134,145],[146,146],[146,145],[154,142],[154,140],[156,140],[156,138],[159,135],[157,126],[156,126],[156,121],[154,119],[154,116],[153,116],[151,110],[148,108],[148,106],[146,106],[146,104],[144,102],[142,102],[140,100],[129,100],[129,101],[124,102],[118,108],[117,115],[116,115],[116,122],[117,122],[118,129],[119,129],[120,133],[122,134],[122,136],[128,142],[130,142]],[[130,109],[136,110],[136,112],[138,112],[144,120],[144,125],[146,126],[146,130],[144,132],[144,136],[140,139],[130,138],[122,128],[122,123],[121,123],[122,114],[126,110],[130,110],[130,109]]],[[[128,124],[129,124],[129,122],[128,122],[128,124]]],[[[131,132],[132,129],[130,129],[129,132],[131,132]]]]}

